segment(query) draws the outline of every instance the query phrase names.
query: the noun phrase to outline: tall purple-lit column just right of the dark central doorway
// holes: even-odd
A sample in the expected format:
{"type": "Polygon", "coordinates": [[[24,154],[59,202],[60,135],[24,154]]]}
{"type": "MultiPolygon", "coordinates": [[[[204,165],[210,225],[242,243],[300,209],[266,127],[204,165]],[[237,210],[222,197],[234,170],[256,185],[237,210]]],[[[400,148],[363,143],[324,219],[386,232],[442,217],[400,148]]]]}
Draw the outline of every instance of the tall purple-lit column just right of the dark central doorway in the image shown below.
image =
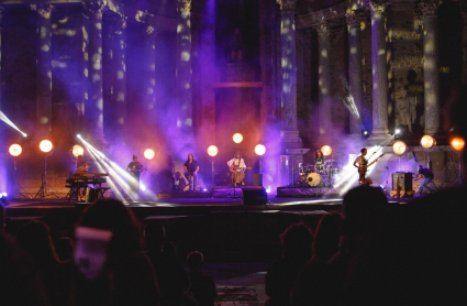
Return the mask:
{"type": "Polygon", "coordinates": [[[282,67],[282,128],[285,147],[301,147],[297,129],[297,63],[296,63],[296,0],[277,0],[280,4],[280,45],[282,67]]]}

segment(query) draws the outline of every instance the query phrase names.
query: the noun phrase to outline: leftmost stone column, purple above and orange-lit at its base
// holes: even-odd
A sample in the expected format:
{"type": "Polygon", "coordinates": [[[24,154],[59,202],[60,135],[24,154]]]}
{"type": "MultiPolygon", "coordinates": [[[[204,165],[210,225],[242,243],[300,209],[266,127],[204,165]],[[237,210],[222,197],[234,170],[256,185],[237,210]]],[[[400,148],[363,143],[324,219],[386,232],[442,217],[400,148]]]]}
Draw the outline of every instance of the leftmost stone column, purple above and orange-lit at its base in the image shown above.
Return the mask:
{"type": "Polygon", "coordinates": [[[52,131],[52,23],[51,4],[32,4],[37,11],[37,76],[36,76],[36,138],[48,138],[52,131]]]}

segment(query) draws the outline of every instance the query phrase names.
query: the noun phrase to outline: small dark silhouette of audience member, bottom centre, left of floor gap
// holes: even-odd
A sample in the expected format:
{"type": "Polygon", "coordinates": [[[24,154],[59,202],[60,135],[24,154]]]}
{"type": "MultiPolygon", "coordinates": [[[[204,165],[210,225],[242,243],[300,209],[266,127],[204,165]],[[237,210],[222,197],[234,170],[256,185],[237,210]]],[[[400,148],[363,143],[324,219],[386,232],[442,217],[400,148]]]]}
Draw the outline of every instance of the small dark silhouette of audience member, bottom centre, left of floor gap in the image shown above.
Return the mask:
{"type": "Polygon", "coordinates": [[[214,278],[202,274],[203,256],[200,252],[191,252],[187,256],[187,266],[190,270],[190,293],[198,300],[199,306],[213,306],[218,296],[214,278]]]}

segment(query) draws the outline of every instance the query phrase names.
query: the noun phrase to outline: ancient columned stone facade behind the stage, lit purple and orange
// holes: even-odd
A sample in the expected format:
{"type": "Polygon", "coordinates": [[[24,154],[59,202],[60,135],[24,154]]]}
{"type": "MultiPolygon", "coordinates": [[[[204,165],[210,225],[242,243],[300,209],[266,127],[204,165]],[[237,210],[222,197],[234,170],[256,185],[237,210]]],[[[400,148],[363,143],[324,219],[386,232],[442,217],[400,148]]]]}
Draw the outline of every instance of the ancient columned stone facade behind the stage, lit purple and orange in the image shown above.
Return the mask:
{"type": "MultiPolygon", "coordinates": [[[[46,2],[0,7],[0,108],[31,135],[19,166],[31,189],[43,168],[32,153],[37,142],[53,139],[54,154],[66,156],[77,133],[114,159],[160,147],[148,162],[157,171],[188,152],[210,164],[211,144],[220,147],[219,167],[236,150],[259,163],[251,149],[264,143],[274,147],[276,160],[263,161],[274,182],[281,154],[311,163],[324,144],[348,154],[385,142],[407,123],[401,89],[413,103],[411,150],[424,133],[435,135],[434,170],[443,182],[455,178],[447,173],[457,155],[443,136],[444,109],[467,79],[458,2],[46,2]],[[240,59],[227,39],[235,29],[240,59]],[[243,144],[226,144],[234,130],[243,144]]],[[[2,136],[16,141],[10,131],[2,136]]],[[[386,162],[397,163],[386,151],[386,162]]],[[[73,168],[65,160],[49,165],[57,186],[73,168]]]]}

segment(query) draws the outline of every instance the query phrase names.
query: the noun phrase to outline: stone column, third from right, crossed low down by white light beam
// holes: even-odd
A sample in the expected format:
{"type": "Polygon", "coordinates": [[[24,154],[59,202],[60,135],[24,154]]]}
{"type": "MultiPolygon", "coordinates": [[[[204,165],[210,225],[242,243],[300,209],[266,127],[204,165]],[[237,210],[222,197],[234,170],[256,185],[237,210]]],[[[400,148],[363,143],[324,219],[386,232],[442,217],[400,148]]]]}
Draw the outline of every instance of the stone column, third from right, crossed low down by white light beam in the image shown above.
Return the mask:
{"type": "Polygon", "coordinates": [[[348,24],[348,85],[354,98],[354,111],[351,113],[351,136],[362,138],[363,125],[363,86],[362,86],[362,43],[360,24],[364,12],[351,11],[345,14],[348,24]]]}

